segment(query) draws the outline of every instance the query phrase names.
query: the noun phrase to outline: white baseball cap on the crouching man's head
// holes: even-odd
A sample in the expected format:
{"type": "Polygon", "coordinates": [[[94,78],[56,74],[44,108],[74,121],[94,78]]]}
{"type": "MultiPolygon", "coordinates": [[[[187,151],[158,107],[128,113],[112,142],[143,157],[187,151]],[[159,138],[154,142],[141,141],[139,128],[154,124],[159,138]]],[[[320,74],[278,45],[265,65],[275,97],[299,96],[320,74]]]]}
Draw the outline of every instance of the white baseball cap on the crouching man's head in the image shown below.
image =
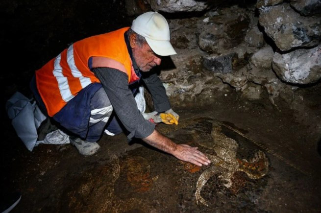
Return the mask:
{"type": "Polygon", "coordinates": [[[147,12],[138,16],[131,29],[144,36],[149,47],[161,56],[177,54],[170,43],[170,27],[164,16],[157,12],[147,12]]]}

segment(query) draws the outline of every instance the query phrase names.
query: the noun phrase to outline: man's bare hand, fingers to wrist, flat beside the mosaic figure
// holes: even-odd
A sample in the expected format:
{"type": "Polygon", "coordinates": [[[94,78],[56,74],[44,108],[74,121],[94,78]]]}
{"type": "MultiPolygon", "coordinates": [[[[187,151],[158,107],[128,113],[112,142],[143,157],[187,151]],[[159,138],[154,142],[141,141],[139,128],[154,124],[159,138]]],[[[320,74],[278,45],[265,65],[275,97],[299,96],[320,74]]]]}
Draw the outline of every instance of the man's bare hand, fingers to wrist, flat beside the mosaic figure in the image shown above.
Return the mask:
{"type": "Polygon", "coordinates": [[[173,151],[173,156],[197,166],[207,166],[211,163],[206,155],[198,150],[198,147],[192,147],[187,144],[176,144],[176,150],[173,151]]]}

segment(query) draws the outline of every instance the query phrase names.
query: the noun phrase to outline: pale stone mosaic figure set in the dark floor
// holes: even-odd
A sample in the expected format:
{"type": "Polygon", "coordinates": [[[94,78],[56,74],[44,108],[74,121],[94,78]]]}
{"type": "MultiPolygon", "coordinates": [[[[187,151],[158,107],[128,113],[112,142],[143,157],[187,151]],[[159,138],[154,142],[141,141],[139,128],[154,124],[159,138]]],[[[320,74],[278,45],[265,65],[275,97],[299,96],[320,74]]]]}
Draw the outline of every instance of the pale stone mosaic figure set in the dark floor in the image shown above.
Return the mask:
{"type": "Polygon", "coordinates": [[[200,191],[210,177],[219,174],[218,178],[222,180],[223,186],[231,188],[232,177],[236,171],[243,171],[251,179],[259,179],[268,173],[269,162],[264,152],[257,151],[250,161],[236,158],[239,147],[235,140],[228,138],[221,132],[221,126],[213,124],[211,131],[211,143],[202,143],[199,145],[212,149],[216,155],[206,154],[211,160],[211,166],[206,169],[198,178],[196,185],[196,202],[208,206],[208,203],[200,195],[200,191]]]}

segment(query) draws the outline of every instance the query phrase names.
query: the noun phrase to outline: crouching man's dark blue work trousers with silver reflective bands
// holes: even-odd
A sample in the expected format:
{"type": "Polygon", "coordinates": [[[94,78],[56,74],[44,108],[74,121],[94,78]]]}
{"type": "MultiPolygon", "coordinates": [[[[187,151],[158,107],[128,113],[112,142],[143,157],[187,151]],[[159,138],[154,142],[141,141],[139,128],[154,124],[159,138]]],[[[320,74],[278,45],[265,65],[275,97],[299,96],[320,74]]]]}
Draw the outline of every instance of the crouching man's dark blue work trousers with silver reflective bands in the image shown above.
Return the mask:
{"type": "MultiPolygon", "coordinates": [[[[35,77],[30,83],[35,99],[47,115],[47,110],[36,87],[35,77]]],[[[144,88],[140,87],[135,94],[138,109],[145,112],[144,88]]],[[[67,130],[67,133],[80,137],[88,142],[97,142],[102,133],[117,135],[126,131],[113,111],[111,102],[99,83],[93,83],[81,90],[57,114],[53,120],[67,130]]],[[[59,127],[59,128],[61,128],[59,127]]]]}

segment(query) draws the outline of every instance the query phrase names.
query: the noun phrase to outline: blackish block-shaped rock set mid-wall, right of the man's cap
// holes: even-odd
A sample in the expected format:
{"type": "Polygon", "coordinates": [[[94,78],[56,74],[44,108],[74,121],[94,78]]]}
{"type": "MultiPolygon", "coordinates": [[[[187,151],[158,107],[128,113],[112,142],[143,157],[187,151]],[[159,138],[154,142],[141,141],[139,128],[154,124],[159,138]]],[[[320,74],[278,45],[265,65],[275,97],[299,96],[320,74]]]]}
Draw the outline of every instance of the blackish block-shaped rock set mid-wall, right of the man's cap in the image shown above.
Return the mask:
{"type": "Polygon", "coordinates": [[[236,53],[232,52],[227,55],[223,56],[208,56],[204,57],[203,59],[203,66],[205,69],[213,72],[220,72],[220,73],[231,73],[232,70],[232,57],[236,53]]]}

